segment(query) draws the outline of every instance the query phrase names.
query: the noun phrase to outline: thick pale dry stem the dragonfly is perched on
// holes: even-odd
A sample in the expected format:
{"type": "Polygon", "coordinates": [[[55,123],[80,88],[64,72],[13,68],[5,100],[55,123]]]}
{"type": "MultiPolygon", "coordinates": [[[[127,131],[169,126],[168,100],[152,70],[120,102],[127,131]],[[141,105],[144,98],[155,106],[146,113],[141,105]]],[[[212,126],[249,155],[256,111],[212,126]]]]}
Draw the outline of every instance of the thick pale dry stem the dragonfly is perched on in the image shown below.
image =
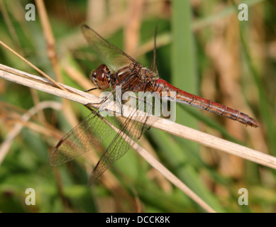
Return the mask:
{"type": "MultiPolygon", "coordinates": [[[[97,96],[94,96],[93,94],[88,94],[86,92],[79,91],[78,89],[74,89],[63,84],[62,86],[70,90],[70,92],[62,91],[57,87],[53,87],[53,83],[49,82],[48,79],[44,79],[43,77],[37,77],[33,74],[28,74],[20,70],[15,70],[11,67],[7,67],[1,64],[0,77],[8,79],[12,82],[16,82],[18,84],[23,84],[25,86],[38,89],[43,92],[55,94],[65,99],[77,101],[80,104],[93,104],[99,102],[99,98],[97,96]],[[11,70],[13,70],[16,74],[11,73],[11,70]],[[18,76],[18,74],[28,76],[30,79],[18,76]]],[[[156,120],[153,121],[152,127],[158,128],[162,131],[166,131],[167,133],[171,133],[173,135],[180,136],[182,138],[186,138],[188,140],[193,140],[194,142],[201,143],[202,145],[206,145],[210,148],[215,148],[226,153],[237,155],[238,157],[243,157],[246,160],[250,160],[258,164],[276,169],[276,157],[267,155],[265,153],[261,153],[258,150],[247,148],[243,145],[238,145],[237,143],[232,143],[227,140],[223,140],[214,135],[209,135],[207,133],[194,130],[193,128],[182,126],[178,123],[173,123],[171,121],[168,121],[167,119],[156,117],[156,120]]],[[[258,129],[248,128],[248,130],[258,129]]]]}

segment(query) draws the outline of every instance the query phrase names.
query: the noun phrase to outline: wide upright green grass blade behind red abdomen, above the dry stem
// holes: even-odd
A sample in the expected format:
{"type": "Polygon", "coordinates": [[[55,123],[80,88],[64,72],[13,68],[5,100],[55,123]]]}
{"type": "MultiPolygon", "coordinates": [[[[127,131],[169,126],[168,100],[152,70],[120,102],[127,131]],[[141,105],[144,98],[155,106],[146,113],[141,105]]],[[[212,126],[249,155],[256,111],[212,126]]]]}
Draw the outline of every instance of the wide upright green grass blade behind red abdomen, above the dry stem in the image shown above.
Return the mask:
{"type": "MultiPolygon", "coordinates": [[[[172,2],[172,84],[197,94],[197,65],[192,35],[192,10],[189,1],[172,2]]],[[[177,108],[177,121],[196,128],[197,121],[177,108]]]]}

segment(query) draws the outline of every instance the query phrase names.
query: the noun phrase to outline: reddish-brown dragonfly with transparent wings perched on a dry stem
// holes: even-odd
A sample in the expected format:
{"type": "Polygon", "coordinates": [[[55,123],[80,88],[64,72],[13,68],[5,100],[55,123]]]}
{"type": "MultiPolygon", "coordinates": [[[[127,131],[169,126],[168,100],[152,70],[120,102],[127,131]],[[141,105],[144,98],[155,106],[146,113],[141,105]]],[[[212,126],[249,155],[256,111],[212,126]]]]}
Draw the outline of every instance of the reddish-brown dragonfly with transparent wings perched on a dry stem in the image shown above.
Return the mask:
{"type": "MultiPolygon", "coordinates": [[[[126,54],[116,46],[101,37],[92,28],[82,25],[82,33],[89,45],[104,60],[106,65],[100,65],[90,74],[90,80],[96,89],[111,89],[111,94],[115,96],[115,88],[120,87],[121,92],[157,92],[160,97],[175,100],[182,104],[204,109],[214,114],[230,118],[252,126],[260,127],[260,123],[241,111],[231,109],[223,104],[204,99],[194,94],[184,92],[172,84],[160,79],[155,63],[155,48],[153,52],[153,62],[150,69],[140,65],[133,57],[126,54]],[[111,70],[112,71],[111,71],[111,70]]],[[[156,32],[155,32],[156,40],[156,32]]],[[[90,89],[92,90],[92,89],[90,89]]],[[[104,104],[101,101],[100,104],[104,104]]],[[[138,103],[143,101],[138,101],[138,103]]],[[[121,104],[123,105],[123,104],[121,104]]],[[[138,104],[140,105],[140,104],[138,104]]],[[[148,104],[150,106],[150,104],[148,104]]],[[[94,170],[89,176],[87,186],[93,184],[96,179],[113,165],[119,158],[136,143],[140,136],[150,127],[148,112],[139,116],[129,114],[127,118],[117,116],[102,116],[99,109],[89,106],[91,114],[79,123],[75,128],[67,133],[53,149],[50,155],[50,165],[57,166],[69,162],[80,155],[96,148],[117,128],[116,135],[109,144],[106,151],[101,155],[94,170]]]]}

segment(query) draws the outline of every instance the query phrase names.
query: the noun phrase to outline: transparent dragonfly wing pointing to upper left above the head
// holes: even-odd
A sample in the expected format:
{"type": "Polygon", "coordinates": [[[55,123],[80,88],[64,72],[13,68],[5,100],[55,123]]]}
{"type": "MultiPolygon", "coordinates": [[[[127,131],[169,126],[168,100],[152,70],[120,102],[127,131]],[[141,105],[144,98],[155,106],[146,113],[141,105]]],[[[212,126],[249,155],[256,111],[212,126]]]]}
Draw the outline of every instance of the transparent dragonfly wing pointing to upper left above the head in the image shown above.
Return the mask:
{"type": "MultiPolygon", "coordinates": [[[[87,25],[82,25],[82,33],[87,42],[92,46],[96,53],[106,62],[113,70],[118,71],[122,67],[136,62],[131,56],[127,55],[116,46],[109,43],[107,40],[96,33],[87,25]]],[[[136,62],[138,63],[138,62],[136,62]]]]}

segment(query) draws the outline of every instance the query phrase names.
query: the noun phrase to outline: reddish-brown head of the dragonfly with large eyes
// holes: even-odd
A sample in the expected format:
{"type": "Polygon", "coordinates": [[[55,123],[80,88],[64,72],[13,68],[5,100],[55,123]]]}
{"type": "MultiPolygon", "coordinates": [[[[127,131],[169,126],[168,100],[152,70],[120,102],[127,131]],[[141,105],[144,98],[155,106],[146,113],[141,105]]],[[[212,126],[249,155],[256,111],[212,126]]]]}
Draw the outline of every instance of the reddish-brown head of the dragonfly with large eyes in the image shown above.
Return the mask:
{"type": "Polygon", "coordinates": [[[100,65],[90,74],[90,80],[99,89],[106,90],[111,87],[110,70],[106,65],[100,65]]]}

